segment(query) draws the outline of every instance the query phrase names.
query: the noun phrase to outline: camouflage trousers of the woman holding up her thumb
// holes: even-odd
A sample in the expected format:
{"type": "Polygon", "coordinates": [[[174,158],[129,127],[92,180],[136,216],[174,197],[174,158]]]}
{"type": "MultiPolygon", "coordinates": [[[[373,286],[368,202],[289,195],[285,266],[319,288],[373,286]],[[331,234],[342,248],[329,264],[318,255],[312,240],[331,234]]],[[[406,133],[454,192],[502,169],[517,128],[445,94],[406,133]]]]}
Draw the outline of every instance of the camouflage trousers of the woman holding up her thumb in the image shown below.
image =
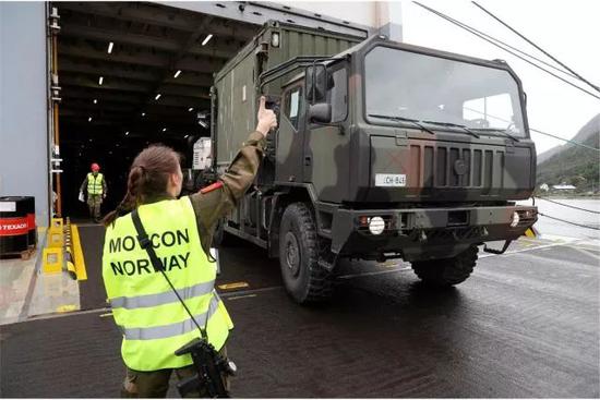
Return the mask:
{"type": "MultiPolygon", "coordinates": [[[[219,353],[227,356],[227,349],[223,347],[219,353]]],[[[167,368],[158,371],[133,371],[128,368],[123,388],[121,390],[122,398],[165,398],[169,390],[169,380],[175,372],[178,380],[185,379],[197,373],[193,366],[184,366],[182,368],[167,368]]],[[[229,377],[224,376],[223,381],[225,388],[229,390],[229,377]]],[[[204,388],[199,392],[191,392],[189,398],[207,398],[208,393],[204,388]]]]}

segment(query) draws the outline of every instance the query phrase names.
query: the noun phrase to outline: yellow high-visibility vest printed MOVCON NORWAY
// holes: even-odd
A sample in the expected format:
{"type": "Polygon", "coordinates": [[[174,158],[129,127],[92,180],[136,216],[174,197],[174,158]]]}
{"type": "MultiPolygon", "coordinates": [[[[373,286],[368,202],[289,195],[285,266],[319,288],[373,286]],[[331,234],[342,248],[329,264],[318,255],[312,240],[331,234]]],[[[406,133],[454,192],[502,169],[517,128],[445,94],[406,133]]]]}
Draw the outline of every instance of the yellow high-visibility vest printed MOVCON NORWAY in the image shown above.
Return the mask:
{"type": "MultiPolygon", "coordinates": [[[[173,287],[219,350],[233,324],[214,289],[216,266],[202,250],[190,198],[142,205],[137,213],[173,287]]],[[[201,334],[140,246],[131,214],[106,230],[103,278],[123,334],[121,354],[128,367],[156,371],[192,364],[189,354],[175,351],[201,334]]]]}

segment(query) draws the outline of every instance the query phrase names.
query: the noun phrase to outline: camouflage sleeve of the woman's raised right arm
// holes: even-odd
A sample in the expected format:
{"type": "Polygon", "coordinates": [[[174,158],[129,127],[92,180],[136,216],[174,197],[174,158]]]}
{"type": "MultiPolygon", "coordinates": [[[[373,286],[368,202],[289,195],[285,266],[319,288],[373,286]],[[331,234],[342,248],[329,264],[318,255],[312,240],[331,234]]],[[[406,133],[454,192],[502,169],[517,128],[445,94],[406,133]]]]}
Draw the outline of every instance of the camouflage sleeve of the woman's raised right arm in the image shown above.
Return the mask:
{"type": "Polygon", "coordinates": [[[202,246],[206,251],[217,221],[238,206],[239,199],[254,181],[263,159],[265,138],[252,132],[238,151],[233,161],[218,181],[215,190],[190,195],[196,215],[202,246]]]}

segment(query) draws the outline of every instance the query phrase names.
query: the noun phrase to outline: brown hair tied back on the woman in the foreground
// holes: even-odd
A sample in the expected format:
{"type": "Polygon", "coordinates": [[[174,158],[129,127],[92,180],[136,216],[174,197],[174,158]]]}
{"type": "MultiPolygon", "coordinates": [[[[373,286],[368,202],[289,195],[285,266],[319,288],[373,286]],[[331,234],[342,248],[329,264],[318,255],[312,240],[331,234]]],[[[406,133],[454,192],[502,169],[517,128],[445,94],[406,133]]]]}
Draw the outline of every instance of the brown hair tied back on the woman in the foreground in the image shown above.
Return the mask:
{"type": "Polygon", "coordinates": [[[169,175],[177,173],[181,157],[172,148],[152,145],[135,157],[129,169],[128,190],[117,208],[103,220],[107,227],[148,198],[166,195],[169,175]]]}

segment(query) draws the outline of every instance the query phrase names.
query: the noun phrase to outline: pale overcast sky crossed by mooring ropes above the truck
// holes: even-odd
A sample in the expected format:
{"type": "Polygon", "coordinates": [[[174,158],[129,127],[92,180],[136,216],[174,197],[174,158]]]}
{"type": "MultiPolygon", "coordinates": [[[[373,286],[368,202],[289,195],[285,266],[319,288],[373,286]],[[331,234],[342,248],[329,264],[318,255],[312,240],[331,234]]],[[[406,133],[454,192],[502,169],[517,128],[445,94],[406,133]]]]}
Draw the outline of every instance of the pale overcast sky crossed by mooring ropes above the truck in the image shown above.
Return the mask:
{"type": "MultiPolygon", "coordinates": [[[[470,1],[422,0],[423,4],[547,61],[525,40],[495,22],[470,1]]],[[[575,72],[600,85],[600,1],[480,0],[505,23],[557,58],[575,72]]],[[[527,93],[529,125],[572,138],[593,116],[600,100],[488,44],[421,9],[401,2],[404,41],[484,59],[504,59],[516,71],[527,93]]],[[[548,60],[548,62],[552,62],[548,60]]],[[[562,75],[563,76],[563,75],[562,75]]],[[[585,84],[581,84],[586,87],[585,84]]],[[[589,87],[586,87],[589,88],[589,87]]],[[[591,88],[589,88],[592,92],[591,88]]],[[[538,154],[563,144],[532,132],[538,154]]]]}

